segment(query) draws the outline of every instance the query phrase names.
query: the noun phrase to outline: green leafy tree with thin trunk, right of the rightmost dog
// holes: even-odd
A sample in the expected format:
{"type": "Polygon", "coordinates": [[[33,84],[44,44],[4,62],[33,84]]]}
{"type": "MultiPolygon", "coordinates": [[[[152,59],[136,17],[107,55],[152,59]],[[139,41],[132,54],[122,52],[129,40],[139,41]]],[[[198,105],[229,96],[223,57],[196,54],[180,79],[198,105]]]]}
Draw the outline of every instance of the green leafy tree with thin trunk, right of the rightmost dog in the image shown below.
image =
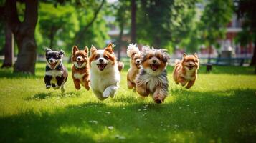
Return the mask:
{"type": "Polygon", "coordinates": [[[217,44],[217,39],[223,39],[227,24],[233,13],[232,0],[212,0],[204,8],[199,30],[201,31],[202,43],[209,46],[208,63],[212,52],[212,45],[217,44]]]}

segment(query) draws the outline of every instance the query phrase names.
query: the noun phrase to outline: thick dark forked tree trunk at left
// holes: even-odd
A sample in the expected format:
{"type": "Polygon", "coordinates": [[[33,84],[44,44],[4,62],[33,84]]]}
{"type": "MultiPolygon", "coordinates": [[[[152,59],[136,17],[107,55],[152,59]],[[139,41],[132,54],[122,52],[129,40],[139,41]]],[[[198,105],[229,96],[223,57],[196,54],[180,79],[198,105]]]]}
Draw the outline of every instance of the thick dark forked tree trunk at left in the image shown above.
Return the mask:
{"type": "Polygon", "coordinates": [[[14,72],[34,74],[37,58],[34,30],[37,25],[38,0],[24,0],[26,6],[24,21],[19,20],[16,2],[16,0],[8,0],[5,3],[6,21],[14,34],[19,50],[16,63],[14,64],[14,72]]]}

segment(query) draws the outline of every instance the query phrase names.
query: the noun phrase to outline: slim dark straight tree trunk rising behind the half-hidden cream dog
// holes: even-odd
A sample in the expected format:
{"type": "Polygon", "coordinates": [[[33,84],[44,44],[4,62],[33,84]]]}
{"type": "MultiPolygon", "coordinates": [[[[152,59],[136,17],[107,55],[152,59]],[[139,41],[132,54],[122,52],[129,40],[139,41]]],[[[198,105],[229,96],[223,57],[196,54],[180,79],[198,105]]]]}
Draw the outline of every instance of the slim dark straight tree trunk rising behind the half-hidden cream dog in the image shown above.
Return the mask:
{"type": "Polygon", "coordinates": [[[136,43],[136,0],[131,0],[131,43],[136,43]]]}

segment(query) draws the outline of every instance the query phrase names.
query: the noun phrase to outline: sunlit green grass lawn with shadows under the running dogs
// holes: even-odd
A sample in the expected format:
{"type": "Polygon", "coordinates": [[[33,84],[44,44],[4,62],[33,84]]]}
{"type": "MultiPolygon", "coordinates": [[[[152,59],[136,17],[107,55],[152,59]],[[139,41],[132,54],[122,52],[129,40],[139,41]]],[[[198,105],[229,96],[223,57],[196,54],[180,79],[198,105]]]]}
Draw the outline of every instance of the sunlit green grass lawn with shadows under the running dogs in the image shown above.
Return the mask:
{"type": "Polygon", "coordinates": [[[127,89],[127,67],[117,96],[103,102],[76,91],[71,77],[64,95],[45,89],[44,64],[36,76],[1,69],[0,142],[256,141],[253,68],[214,66],[206,74],[202,66],[189,90],[174,84],[168,70],[169,97],[154,104],[127,89]]]}

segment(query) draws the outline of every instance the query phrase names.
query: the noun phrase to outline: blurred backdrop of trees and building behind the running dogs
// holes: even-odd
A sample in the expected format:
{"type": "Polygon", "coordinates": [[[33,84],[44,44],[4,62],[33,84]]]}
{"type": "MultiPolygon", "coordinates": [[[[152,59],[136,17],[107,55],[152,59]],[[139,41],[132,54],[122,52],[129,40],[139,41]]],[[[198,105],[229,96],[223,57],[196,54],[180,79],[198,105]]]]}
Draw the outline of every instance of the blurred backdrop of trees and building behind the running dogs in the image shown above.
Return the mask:
{"type": "Polygon", "coordinates": [[[0,60],[14,72],[34,74],[44,48],[137,43],[168,49],[171,63],[186,52],[202,64],[255,66],[254,0],[1,0],[0,60]]]}

